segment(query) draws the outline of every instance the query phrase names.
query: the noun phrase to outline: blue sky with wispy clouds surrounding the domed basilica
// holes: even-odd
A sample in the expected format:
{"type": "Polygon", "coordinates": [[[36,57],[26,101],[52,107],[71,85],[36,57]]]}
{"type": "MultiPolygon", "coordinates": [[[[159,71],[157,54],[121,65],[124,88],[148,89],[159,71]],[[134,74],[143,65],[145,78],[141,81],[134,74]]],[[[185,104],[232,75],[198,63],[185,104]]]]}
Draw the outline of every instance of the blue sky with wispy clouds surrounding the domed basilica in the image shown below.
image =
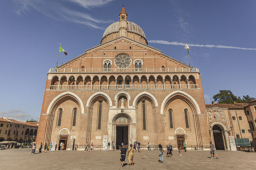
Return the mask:
{"type": "Polygon", "coordinates": [[[0,117],[39,120],[59,43],[68,52],[59,64],[97,46],[123,3],[151,47],[188,64],[183,43],[194,44],[190,62],[202,74],[206,103],[220,89],[256,97],[255,0],[4,0],[0,117]]]}

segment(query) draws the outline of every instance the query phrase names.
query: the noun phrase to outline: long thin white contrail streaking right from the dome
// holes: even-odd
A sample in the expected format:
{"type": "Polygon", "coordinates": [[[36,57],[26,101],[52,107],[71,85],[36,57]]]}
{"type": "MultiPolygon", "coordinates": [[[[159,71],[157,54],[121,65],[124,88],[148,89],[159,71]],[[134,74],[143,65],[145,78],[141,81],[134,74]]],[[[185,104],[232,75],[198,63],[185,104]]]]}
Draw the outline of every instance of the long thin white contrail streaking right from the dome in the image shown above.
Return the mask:
{"type": "MultiPolygon", "coordinates": [[[[185,46],[186,43],[179,42],[168,42],[164,40],[149,40],[149,43],[158,43],[158,44],[166,44],[166,45],[174,45],[174,46],[185,46]]],[[[230,48],[230,49],[238,49],[238,50],[256,50],[256,48],[246,48],[246,47],[232,47],[232,46],[224,46],[224,45],[210,45],[210,44],[188,44],[190,47],[207,47],[207,48],[230,48]]]]}

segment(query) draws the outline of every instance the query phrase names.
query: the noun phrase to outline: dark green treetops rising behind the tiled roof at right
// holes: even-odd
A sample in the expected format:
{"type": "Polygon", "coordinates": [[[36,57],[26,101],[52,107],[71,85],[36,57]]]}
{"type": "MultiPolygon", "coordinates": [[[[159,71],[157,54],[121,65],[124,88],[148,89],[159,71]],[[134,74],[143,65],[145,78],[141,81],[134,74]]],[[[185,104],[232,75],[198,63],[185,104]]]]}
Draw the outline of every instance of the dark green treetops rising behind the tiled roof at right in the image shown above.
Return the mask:
{"type": "Polygon", "coordinates": [[[215,94],[213,98],[218,103],[247,103],[255,99],[249,95],[243,96],[243,98],[237,97],[230,90],[220,90],[220,93],[215,94]]]}

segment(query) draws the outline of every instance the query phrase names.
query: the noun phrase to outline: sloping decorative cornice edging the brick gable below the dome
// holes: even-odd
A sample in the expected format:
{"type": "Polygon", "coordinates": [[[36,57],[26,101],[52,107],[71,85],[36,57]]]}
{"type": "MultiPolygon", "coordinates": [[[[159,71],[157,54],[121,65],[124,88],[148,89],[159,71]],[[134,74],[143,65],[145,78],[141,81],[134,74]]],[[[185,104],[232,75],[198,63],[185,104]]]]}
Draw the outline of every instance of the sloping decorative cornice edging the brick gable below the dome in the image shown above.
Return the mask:
{"type": "Polygon", "coordinates": [[[128,40],[128,41],[131,41],[132,43],[135,43],[135,44],[137,44],[137,45],[140,45],[141,47],[145,47],[145,48],[147,48],[147,49],[150,49],[151,51],[158,52],[158,53],[160,53],[161,55],[163,55],[163,56],[165,56],[165,57],[167,57],[167,58],[169,58],[169,59],[172,59],[172,60],[176,61],[176,62],[179,63],[179,64],[182,64],[182,65],[184,65],[184,66],[186,66],[186,67],[190,67],[189,65],[184,64],[184,63],[182,63],[181,61],[179,61],[179,60],[177,60],[177,59],[174,59],[174,58],[172,58],[172,57],[170,57],[170,56],[168,56],[168,55],[163,54],[162,51],[160,51],[160,50],[158,50],[158,49],[156,49],[156,48],[154,48],[154,47],[150,47],[149,45],[142,44],[142,43],[137,42],[137,41],[135,41],[135,40],[133,40],[133,39],[131,39],[131,38],[128,38],[128,37],[119,37],[119,38],[113,39],[113,40],[111,40],[111,41],[109,41],[109,42],[106,42],[106,43],[97,45],[97,46],[95,46],[95,47],[89,48],[88,50],[85,50],[83,54],[81,54],[81,55],[75,57],[74,59],[71,59],[70,61],[67,61],[66,63],[64,63],[64,64],[58,66],[57,68],[61,68],[61,67],[65,66],[66,64],[71,63],[72,61],[78,59],[79,57],[81,57],[81,56],[83,56],[83,55],[85,55],[85,54],[87,54],[87,53],[89,53],[89,52],[91,52],[91,51],[94,51],[94,50],[96,50],[96,49],[98,49],[98,48],[107,46],[107,45],[109,45],[109,44],[111,44],[111,43],[117,42],[117,41],[119,41],[119,39],[125,39],[125,40],[128,40]]]}

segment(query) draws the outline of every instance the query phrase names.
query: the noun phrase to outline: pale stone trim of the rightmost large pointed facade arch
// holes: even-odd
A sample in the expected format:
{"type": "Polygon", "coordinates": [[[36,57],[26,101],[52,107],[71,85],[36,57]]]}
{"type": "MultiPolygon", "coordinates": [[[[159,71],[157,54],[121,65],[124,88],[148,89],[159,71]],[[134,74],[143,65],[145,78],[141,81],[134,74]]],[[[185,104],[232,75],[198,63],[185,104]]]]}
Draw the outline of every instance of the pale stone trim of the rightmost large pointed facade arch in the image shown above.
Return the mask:
{"type": "Polygon", "coordinates": [[[170,94],[168,94],[164,99],[163,99],[163,102],[162,102],[162,105],[161,105],[161,110],[160,110],[160,114],[163,115],[163,109],[164,109],[164,105],[165,103],[168,101],[169,98],[171,98],[173,95],[175,94],[182,94],[184,95],[185,97],[189,98],[190,101],[194,104],[195,108],[196,108],[196,111],[197,111],[197,114],[201,114],[201,111],[200,111],[200,108],[199,108],[199,105],[197,104],[197,102],[195,101],[195,99],[190,96],[188,93],[185,93],[181,90],[176,90],[170,94]]]}

